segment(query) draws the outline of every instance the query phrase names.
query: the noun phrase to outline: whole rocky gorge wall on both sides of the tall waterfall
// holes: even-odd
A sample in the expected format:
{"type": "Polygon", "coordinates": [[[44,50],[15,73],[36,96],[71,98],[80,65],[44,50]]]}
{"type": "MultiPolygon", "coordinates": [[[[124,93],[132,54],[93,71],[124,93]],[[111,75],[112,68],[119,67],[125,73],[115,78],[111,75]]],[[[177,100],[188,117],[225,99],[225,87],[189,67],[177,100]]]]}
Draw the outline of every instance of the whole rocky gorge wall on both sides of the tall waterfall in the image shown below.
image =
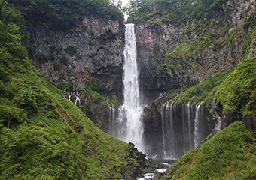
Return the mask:
{"type": "MultiPolygon", "coordinates": [[[[154,14],[151,20],[136,23],[140,86],[144,104],[148,104],[145,112],[151,112],[144,115],[145,141],[153,138],[150,134],[163,137],[160,107],[169,100],[154,105],[160,92],[193,86],[209,74],[227,71],[241,61],[245,37],[252,31],[243,24],[254,10],[252,0],[230,0],[203,22],[162,23],[161,15],[154,14]]],[[[41,75],[66,89],[66,98],[68,92],[78,89],[81,110],[105,132],[113,129],[114,116],[123,101],[124,24],[84,17],[70,30],[51,31],[38,24],[29,26],[28,31],[30,56],[41,75]],[[99,94],[90,94],[88,89],[99,94]]],[[[75,102],[74,95],[71,100],[75,102]]],[[[216,113],[212,114],[213,118],[205,119],[209,123],[205,137],[217,124],[216,113]]]]}

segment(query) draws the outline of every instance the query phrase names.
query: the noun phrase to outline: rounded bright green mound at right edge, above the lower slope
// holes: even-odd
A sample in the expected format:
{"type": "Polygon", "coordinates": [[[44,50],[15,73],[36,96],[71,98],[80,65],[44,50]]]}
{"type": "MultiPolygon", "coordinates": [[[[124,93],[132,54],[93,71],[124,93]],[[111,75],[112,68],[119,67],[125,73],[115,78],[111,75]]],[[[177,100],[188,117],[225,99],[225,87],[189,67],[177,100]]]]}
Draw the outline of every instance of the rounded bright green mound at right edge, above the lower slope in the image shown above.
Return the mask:
{"type": "Polygon", "coordinates": [[[243,60],[219,86],[215,104],[222,111],[256,113],[256,57],[243,60]]]}

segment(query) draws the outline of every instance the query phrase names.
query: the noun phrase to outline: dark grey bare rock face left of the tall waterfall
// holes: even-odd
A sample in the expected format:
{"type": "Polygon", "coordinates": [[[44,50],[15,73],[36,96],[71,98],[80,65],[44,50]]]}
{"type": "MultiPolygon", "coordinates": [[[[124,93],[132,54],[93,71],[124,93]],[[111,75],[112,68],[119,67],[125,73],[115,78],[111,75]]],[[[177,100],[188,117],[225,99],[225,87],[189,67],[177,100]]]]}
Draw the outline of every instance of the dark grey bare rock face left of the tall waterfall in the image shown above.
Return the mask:
{"type": "Polygon", "coordinates": [[[69,31],[51,31],[42,24],[29,26],[28,31],[33,62],[51,82],[72,83],[73,89],[93,83],[99,91],[120,92],[122,22],[84,17],[69,31]]]}

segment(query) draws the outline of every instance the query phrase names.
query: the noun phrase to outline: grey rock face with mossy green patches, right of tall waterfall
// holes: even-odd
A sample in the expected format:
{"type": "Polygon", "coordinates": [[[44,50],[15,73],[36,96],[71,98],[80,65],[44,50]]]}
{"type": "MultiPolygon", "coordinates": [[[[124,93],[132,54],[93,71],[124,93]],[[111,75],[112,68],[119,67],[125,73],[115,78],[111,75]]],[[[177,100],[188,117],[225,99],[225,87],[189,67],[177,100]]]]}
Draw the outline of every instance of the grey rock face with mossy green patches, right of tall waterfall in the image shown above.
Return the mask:
{"type": "Polygon", "coordinates": [[[254,9],[253,1],[227,1],[215,17],[202,22],[204,29],[197,29],[198,22],[161,23],[160,14],[136,24],[142,88],[160,91],[194,85],[209,71],[221,73],[237,65],[247,35],[242,24],[254,9]]]}

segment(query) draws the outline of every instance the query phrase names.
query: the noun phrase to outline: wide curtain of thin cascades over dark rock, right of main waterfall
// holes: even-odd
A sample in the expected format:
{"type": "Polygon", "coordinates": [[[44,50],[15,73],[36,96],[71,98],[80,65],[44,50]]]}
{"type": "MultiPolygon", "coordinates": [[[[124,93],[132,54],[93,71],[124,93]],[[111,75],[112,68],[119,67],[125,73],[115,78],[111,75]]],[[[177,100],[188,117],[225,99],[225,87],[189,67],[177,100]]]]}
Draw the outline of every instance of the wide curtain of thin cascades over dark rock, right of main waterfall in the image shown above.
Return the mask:
{"type": "Polygon", "coordinates": [[[162,123],[162,150],[148,152],[150,156],[158,154],[157,158],[178,159],[206,138],[206,116],[203,112],[203,102],[196,106],[191,104],[165,103],[160,108],[162,123]]]}

